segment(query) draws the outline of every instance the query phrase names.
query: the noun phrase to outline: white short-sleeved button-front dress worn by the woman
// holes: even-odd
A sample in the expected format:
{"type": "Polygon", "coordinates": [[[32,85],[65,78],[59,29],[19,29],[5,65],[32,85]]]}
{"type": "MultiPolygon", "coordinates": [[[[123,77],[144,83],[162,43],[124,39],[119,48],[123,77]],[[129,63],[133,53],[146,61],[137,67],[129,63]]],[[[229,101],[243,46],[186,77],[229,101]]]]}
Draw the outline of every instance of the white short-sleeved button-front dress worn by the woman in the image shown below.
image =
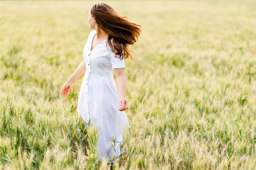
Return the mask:
{"type": "Polygon", "coordinates": [[[96,125],[99,132],[97,141],[99,158],[102,160],[106,157],[109,160],[114,154],[118,157],[124,152],[120,144],[123,142],[125,124],[129,127],[126,112],[118,111],[119,94],[113,77],[114,68],[125,68],[125,62],[124,59],[115,57],[107,39],[91,50],[95,34],[95,30],[91,31],[84,45],[86,72],[79,91],[77,112],[86,128],[89,120],[90,125],[96,125]]]}

